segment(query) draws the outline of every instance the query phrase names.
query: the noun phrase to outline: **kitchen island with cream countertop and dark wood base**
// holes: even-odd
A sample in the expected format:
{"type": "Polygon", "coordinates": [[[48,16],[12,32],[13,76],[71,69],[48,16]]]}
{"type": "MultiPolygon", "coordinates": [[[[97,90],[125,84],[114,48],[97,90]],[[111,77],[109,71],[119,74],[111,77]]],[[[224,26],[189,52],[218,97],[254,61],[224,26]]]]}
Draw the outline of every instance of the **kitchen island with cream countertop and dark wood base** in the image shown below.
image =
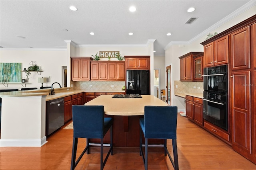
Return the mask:
{"type": "MultiPolygon", "coordinates": [[[[142,98],[112,98],[112,95],[101,95],[90,102],[89,105],[103,105],[105,117],[112,117],[113,146],[124,151],[137,151],[140,146],[139,119],[144,115],[144,106],[167,106],[165,102],[153,95],[141,95],[142,98]]],[[[104,143],[109,143],[109,135],[104,138],[104,143]]],[[[90,139],[90,143],[99,143],[98,139],[90,139]]],[[[150,139],[149,145],[164,144],[162,139],[150,139]]]]}

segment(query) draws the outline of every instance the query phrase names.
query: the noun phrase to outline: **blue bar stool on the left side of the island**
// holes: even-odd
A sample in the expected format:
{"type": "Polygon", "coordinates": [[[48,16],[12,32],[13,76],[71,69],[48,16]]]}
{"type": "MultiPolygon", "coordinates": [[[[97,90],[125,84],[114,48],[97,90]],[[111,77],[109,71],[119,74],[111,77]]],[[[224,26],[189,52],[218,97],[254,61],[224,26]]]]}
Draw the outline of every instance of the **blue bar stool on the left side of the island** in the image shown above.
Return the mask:
{"type": "Polygon", "coordinates": [[[104,117],[104,106],[84,106],[84,105],[73,105],[73,148],[72,148],[72,159],[71,159],[71,170],[74,170],[78,162],[87,150],[89,154],[89,139],[100,139],[100,170],[103,170],[108,156],[111,152],[113,155],[113,135],[112,125],[113,119],[111,117],[104,117]],[[110,149],[108,154],[103,161],[103,138],[110,129],[110,149]],[[76,160],[76,150],[78,138],[86,138],[86,148],[82,154],[76,160]]]}

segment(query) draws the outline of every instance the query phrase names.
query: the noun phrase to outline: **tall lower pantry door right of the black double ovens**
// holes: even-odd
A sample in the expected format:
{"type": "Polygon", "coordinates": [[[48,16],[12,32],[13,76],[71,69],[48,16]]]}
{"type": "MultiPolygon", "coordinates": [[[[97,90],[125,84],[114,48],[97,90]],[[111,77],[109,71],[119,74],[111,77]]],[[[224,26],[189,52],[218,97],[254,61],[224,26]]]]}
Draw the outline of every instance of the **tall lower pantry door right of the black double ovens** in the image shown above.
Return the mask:
{"type": "Polygon", "coordinates": [[[248,156],[251,148],[250,71],[234,71],[230,78],[232,148],[248,156]]]}

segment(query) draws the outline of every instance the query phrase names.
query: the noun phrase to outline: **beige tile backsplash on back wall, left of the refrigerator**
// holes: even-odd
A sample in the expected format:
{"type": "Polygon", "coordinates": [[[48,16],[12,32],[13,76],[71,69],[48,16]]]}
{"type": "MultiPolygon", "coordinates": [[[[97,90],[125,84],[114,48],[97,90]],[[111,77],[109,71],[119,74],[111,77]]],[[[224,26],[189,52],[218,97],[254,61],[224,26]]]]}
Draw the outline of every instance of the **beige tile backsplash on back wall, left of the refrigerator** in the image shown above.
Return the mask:
{"type": "Polygon", "coordinates": [[[72,84],[74,90],[122,90],[125,81],[78,81],[72,84]]]}

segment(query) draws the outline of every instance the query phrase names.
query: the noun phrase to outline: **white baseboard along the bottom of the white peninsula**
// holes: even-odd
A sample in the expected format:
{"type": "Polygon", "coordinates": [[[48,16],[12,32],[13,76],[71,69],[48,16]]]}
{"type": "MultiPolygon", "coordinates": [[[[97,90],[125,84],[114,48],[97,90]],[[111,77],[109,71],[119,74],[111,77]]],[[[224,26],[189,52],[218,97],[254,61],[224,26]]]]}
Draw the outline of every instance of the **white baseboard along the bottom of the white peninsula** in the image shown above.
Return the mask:
{"type": "Polygon", "coordinates": [[[42,147],[46,143],[46,136],[42,139],[0,139],[0,147],[42,147]]]}

